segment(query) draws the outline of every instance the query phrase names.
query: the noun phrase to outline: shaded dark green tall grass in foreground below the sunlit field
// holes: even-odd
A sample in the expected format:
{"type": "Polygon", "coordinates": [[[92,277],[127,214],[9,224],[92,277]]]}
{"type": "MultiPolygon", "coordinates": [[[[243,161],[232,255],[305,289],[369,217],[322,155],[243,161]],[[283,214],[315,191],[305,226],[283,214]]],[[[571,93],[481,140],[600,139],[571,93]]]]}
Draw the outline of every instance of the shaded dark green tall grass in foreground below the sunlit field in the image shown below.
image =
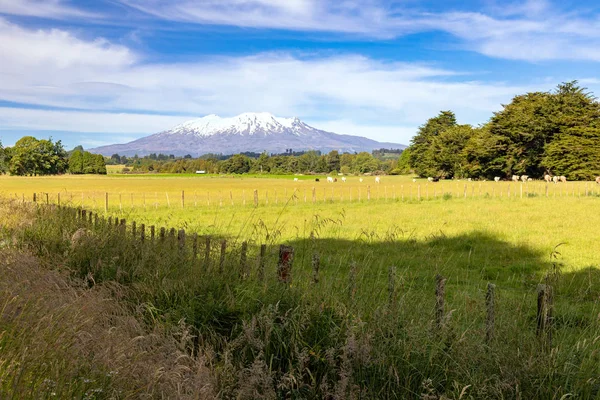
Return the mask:
{"type": "Polygon", "coordinates": [[[321,230],[338,225],[315,217],[286,240],[295,260],[291,284],[282,284],[276,226],[253,228],[269,233],[250,240],[246,277],[245,238],[230,241],[220,272],[218,237],[205,265],[204,242],[195,259],[189,235],[179,250],[174,238],[142,242],[105,221],[94,227],[78,220],[70,209],[12,207],[24,208],[11,214],[32,217],[6,229],[6,242],[90,288],[118,284],[120,301],[140,310],[149,326],[178,335],[181,323],[188,325],[194,339],[185,351],[204,355],[220,398],[595,398],[600,389],[598,272],[564,272],[559,259],[486,232],[320,239],[321,230]],[[78,229],[88,231],[73,244],[78,229]],[[262,243],[269,245],[264,279],[262,243]],[[392,254],[399,261],[393,274],[378,263],[392,254]],[[434,315],[437,273],[448,278],[441,325],[434,315]],[[486,342],[489,281],[497,284],[496,325],[486,342]],[[535,335],[535,287],[542,281],[556,291],[551,348],[535,335]]]}

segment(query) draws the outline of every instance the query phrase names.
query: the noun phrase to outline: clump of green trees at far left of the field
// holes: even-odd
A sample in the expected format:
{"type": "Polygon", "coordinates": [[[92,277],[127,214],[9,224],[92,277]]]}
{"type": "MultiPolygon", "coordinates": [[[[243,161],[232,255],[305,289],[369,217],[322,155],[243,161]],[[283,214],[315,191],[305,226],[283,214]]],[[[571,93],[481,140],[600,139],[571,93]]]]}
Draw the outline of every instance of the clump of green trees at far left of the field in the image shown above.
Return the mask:
{"type": "Polygon", "coordinates": [[[106,174],[104,157],[84,151],[80,146],[70,154],[60,140],[38,140],[24,136],[12,147],[0,143],[0,173],[20,176],[106,174]]]}

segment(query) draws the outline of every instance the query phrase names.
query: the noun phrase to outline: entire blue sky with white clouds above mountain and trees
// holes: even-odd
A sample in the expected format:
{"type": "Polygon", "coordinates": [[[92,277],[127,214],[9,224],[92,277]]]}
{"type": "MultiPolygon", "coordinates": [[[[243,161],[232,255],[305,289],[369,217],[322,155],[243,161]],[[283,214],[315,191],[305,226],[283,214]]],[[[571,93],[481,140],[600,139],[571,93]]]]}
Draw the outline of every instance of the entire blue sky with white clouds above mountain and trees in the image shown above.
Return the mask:
{"type": "Polygon", "coordinates": [[[271,112],[408,144],[577,79],[600,95],[594,0],[0,0],[0,141],[122,143],[271,112]]]}

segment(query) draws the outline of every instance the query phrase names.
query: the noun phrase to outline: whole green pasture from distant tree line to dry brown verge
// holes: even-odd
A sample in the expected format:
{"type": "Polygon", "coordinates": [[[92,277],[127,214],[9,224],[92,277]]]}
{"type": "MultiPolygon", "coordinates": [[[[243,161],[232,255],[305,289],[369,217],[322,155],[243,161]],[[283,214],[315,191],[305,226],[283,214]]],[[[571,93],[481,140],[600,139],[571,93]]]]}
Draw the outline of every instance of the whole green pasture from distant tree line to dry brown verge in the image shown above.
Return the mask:
{"type": "MultiPolygon", "coordinates": [[[[0,187],[16,205],[34,192],[56,204],[60,193],[61,205],[125,219],[126,240],[101,223],[104,239],[66,265],[131,285],[130,300],[151,305],[152,320],[187,321],[204,345],[234,352],[239,371],[260,364],[285,386],[279,397],[596,398],[597,185],[298,178],[1,177],[0,187]],[[149,238],[140,247],[141,224],[185,230],[186,250],[149,238]],[[295,251],[283,286],[280,244],[295,251]],[[553,288],[551,339],[539,331],[540,284],[553,288]],[[352,350],[357,343],[369,354],[352,350]],[[337,387],[348,374],[355,388],[337,387]]],[[[81,221],[44,209],[22,236],[43,254],[63,254],[64,239],[50,238],[69,237],[81,221]]],[[[222,393],[256,397],[221,379],[222,393]]]]}

